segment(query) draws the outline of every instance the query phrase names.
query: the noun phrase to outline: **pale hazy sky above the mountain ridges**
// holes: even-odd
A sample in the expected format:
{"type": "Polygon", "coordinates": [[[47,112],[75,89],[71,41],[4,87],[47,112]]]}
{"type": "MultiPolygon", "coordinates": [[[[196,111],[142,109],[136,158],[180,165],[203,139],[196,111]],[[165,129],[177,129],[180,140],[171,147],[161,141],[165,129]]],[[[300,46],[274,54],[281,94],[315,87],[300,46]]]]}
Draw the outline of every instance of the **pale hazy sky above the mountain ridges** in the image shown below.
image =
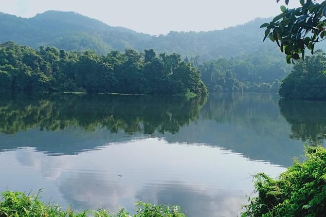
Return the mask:
{"type": "MultiPolygon", "coordinates": [[[[152,35],[208,31],[280,14],[284,0],[0,0],[0,11],[34,17],[47,10],[74,11],[111,26],[152,35]]],[[[299,0],[290,0],[298,7],[299,0]]]]}

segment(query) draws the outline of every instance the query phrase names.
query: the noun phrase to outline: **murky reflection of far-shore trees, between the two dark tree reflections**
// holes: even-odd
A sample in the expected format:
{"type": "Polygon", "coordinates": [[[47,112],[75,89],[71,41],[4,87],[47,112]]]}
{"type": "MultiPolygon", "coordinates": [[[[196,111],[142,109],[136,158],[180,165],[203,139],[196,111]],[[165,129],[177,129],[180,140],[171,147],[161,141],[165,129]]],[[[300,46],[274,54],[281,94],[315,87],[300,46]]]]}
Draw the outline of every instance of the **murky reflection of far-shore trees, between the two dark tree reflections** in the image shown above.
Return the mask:
{"type": "Polygon", "coordinates": [[[260,131],[279,118],[277,100],[276,94],[219,93],[209,98],[201,113],[218,123],[246,124],[260,131]]]}

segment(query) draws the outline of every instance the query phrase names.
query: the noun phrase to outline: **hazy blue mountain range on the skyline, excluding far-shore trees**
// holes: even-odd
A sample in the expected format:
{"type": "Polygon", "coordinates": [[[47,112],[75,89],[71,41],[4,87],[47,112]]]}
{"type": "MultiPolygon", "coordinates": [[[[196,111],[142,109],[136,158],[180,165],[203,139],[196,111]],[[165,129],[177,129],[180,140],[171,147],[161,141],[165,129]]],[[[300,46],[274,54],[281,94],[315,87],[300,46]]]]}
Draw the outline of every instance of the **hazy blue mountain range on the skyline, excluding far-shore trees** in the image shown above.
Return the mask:
{"type": "Polygon", "coordinates": [[[75,12],[47,11],[33,18],[20,18],[0,13],[0,43],[15,41],[32,47],[55,46],[65,50],[92,49],[105,54],[110,49],[139,51],[153,48],[158,52],[199,55],[217,59],[238,54],[272,52],[272,42],[262,42],[259,26],[269,18],[256,18],[244,25],[209,32],[170,32],[150,36],[123,27],[112,27],[75,12]]]}

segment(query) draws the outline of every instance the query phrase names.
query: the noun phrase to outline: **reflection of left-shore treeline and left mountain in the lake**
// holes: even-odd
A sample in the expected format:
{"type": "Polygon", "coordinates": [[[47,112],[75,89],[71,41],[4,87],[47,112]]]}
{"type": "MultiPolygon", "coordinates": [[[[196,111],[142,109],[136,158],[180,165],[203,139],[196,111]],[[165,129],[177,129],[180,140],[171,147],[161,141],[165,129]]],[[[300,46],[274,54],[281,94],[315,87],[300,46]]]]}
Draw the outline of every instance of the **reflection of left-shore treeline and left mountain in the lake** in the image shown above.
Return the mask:
{"type": "Polygon", "coordinates": [[[144,135],[176,134],[199,117],[205,98],[132,95],[0,97],[0,151],[21,146],[78,154],[144,135]]]}

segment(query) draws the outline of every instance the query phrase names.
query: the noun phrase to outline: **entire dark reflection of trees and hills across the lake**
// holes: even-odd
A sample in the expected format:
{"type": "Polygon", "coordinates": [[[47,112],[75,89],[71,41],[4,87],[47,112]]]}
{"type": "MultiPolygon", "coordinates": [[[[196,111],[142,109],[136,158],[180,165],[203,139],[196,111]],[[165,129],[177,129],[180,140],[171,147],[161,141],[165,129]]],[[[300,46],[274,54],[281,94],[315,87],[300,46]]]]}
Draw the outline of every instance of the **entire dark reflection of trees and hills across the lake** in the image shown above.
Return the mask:
{"type": "Polygon", "coordinates": [[[48,155],[74,155],[157,137],[289,166],[303,154],[298,139],[326,136],[324,102],[279,101],[277,94],[212,94],[208,100],[99,94],[0,98],[0,151],[31,146],[48,155]]]}

